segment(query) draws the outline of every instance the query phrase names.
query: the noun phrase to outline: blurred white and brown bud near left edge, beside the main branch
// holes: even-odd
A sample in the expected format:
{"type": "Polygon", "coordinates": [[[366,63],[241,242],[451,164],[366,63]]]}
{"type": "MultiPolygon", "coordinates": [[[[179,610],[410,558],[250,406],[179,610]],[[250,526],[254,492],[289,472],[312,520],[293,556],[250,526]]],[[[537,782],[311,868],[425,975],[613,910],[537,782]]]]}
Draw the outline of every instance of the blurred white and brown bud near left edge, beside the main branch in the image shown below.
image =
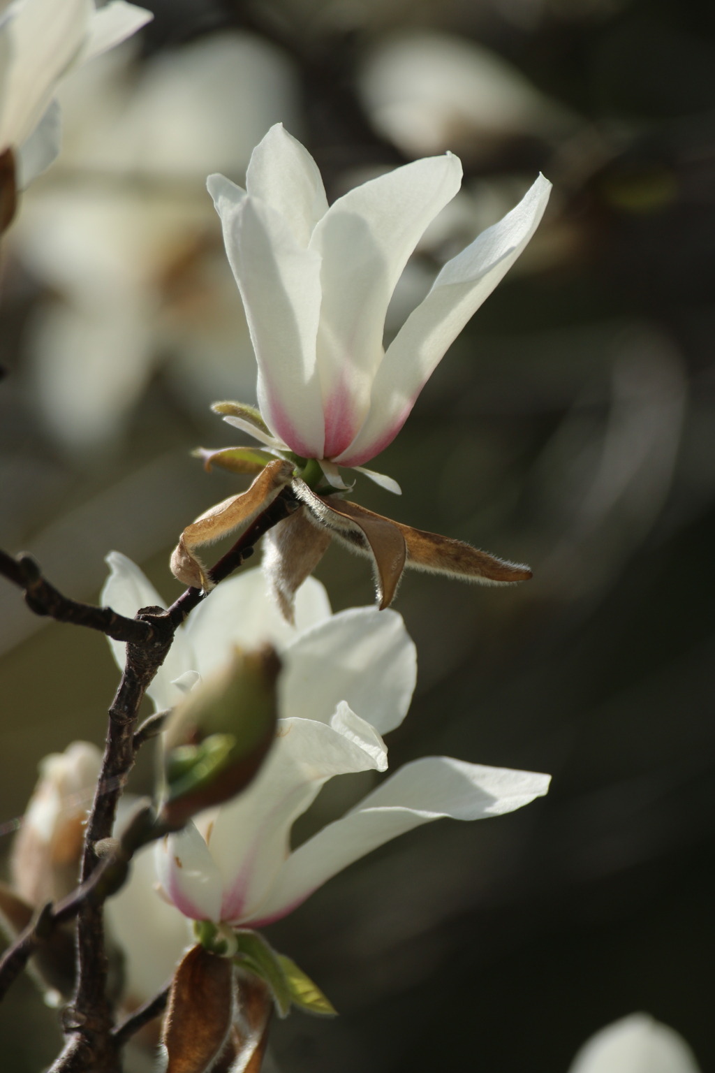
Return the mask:
{"type": "Polygon", "coordinates": [[[40,763],[40,780],[15,836],[13,884],[33,906],[56,901],[77,883],[85,822],[92,804],[102,753],[88,741],[40,763]]]}

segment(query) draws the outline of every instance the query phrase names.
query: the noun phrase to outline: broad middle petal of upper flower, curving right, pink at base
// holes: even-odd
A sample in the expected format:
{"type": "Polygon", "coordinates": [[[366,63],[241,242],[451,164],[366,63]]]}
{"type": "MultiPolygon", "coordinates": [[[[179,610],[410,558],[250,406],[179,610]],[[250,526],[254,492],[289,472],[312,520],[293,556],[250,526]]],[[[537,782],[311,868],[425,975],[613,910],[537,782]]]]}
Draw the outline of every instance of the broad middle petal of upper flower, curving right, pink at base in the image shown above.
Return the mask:
{"type": "Polygon", "coordinates": [[[323,262],[317,363],[326,458],[347,447],[366,417],[392,291],[461,180],[457,157],[418,160],[351,190],[315,226],[310,245],[323,262]]]}

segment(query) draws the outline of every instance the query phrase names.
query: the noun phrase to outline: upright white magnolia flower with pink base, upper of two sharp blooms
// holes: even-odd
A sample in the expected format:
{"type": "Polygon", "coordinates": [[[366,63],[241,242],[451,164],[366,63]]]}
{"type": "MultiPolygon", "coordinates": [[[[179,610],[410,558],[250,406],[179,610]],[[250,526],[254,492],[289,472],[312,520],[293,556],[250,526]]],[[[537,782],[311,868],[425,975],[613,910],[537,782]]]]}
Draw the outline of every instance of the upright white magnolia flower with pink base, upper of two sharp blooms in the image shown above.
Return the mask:
{"type": "Polygon", "coordinates": [[[241,416],[226,421],[272,450],[318,459],[336,487],[344,487],[338,466],[361,469],[392,441],[447,348],[528,242],[551,189],[539,176],[515,209],[449,261],[385,351],[394,286],[461,179],[457,157],[430,157],[328,207],[315,162],[281,126],[255,148],[245,190],[209,177],[268,435],[241,416]]]}

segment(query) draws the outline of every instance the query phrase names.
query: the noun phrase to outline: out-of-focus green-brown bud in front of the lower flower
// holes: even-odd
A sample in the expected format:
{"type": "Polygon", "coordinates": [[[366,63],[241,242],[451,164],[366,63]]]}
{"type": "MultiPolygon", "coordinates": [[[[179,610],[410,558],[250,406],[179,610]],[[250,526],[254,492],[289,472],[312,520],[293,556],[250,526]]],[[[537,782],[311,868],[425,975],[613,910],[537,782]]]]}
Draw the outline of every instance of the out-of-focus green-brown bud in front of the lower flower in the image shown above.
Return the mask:
{"type": "Polygon", "coordinates": [[[166,824],[182,826],[253,779],[273,740],[280,666],[270,646],[236,648],[227,665],[175,708],[164,732],[166,824]]]}

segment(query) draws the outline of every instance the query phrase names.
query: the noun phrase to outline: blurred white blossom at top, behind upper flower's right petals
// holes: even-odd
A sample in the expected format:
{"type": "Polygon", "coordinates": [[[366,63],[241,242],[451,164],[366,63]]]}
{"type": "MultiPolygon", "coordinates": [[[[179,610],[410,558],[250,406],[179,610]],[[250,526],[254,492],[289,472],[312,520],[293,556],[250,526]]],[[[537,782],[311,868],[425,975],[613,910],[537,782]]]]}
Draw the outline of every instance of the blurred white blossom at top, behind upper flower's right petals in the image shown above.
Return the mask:
{"type": "Polygon", "coordinates": [[[466,160],[511,137],[563,137],[578,119],[500,56],[463,38],[418,31],[378,42],[359,92],[375,130],[407,157],[466,160]]]}

